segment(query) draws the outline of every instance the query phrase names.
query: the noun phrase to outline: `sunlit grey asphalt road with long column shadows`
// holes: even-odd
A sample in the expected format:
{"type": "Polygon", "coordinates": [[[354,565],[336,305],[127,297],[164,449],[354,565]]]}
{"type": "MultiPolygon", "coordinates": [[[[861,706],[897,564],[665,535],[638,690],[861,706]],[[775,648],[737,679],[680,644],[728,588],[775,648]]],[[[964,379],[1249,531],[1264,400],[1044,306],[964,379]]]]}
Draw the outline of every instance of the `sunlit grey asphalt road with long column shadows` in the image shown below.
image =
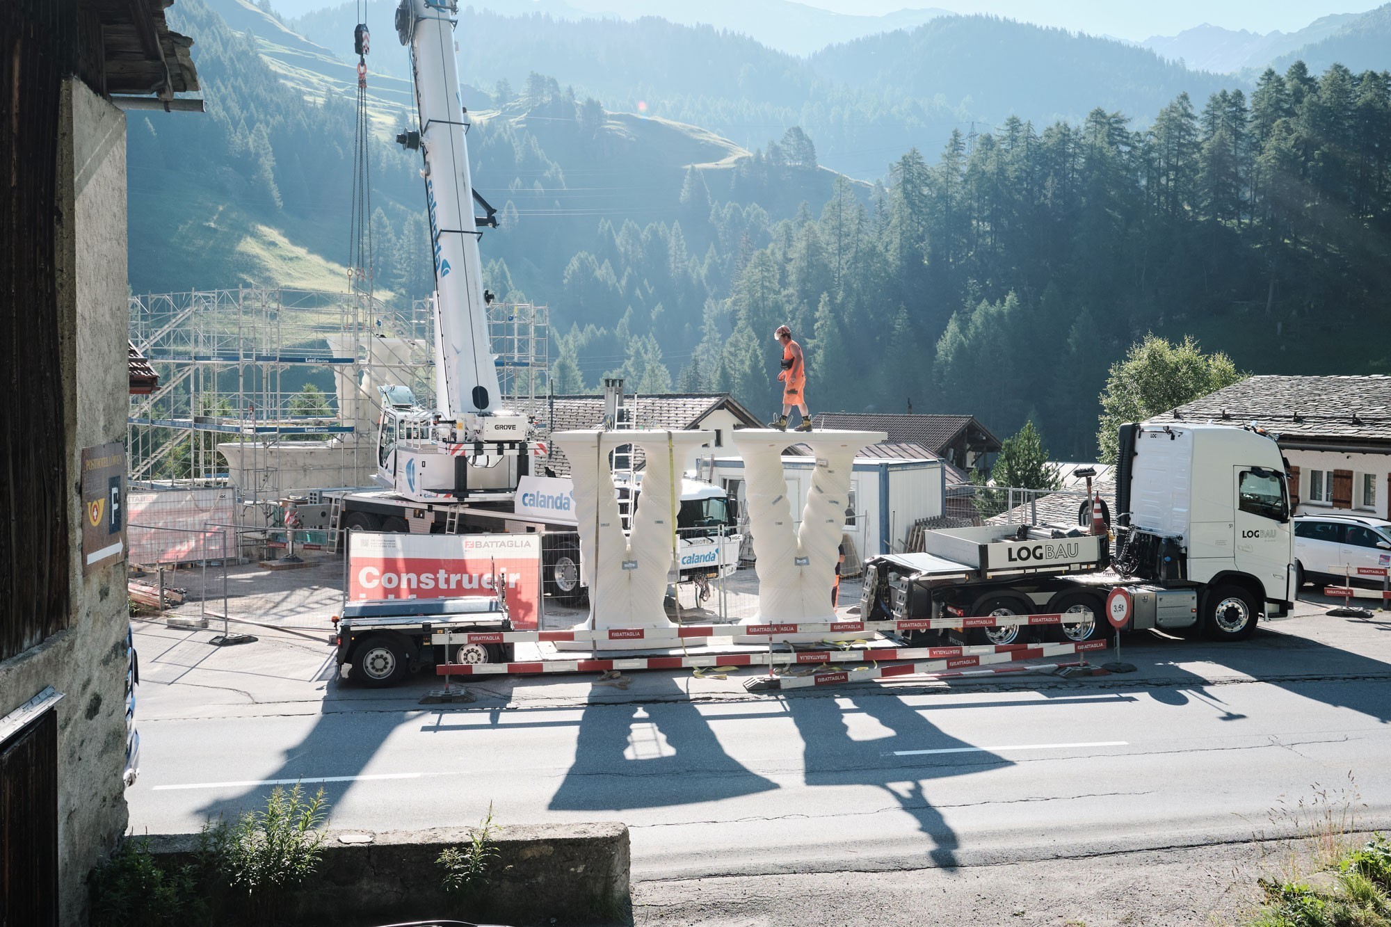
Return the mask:
{"type": "Polygon", "coordinates": [[[786,696],[551,676],[444,710],[417,704],[433,678],[338,682],[316,640],[214,649],[138,625],[131,824],[196,831],[275,782],[323,781],[335,828],[465,825],[488,803],[504,825],[622,820],[636,880],[1249,841],[1344,805],[1385,828],[1391,621],[1301,612],[1235,646],[1128,635],[1128,675],[786,696]]]}

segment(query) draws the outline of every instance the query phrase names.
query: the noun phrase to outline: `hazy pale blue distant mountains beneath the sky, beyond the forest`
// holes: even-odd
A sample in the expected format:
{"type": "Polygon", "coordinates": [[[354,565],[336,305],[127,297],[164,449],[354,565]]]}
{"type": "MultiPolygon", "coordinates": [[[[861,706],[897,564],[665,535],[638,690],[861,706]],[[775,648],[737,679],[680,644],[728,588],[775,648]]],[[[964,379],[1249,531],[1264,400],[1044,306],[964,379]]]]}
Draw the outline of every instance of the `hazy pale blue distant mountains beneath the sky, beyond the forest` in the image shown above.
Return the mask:
{"type": "MultiPolygon", "coordinates": [[[[403,75],[391,8],[388,0],[369,0],[369,70],[403,75]]],[[[291,24],[339,50],[351,49],[356,17],[351,1],[291,24]]],[[[910,148],[940,150],[954,129],[970,134],[1010,116],[1039,127],[1077,121],[1097,106],[1141,127],[1178,93],[1206,99],[1223,86],[1149,49],[979,15],[940,15],[810,57],[654,17],[574,21],[466,8],[456,36],[460,79],[473,86],[520,88],[538,71],[609,110],[700,125],[750,150],[798,125],[822,163],[861,180],[882,178],[910,148]]]]}

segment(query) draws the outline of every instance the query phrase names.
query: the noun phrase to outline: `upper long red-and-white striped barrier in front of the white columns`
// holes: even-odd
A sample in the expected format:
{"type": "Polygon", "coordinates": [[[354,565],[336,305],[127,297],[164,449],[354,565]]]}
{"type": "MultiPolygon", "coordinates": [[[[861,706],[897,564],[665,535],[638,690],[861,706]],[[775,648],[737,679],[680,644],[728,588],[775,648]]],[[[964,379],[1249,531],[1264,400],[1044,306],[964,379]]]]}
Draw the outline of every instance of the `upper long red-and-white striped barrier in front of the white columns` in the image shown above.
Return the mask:
{"type": "Polygon", "coordinates": [[[805,624],[778,625],[672,625],[670,628],[576,628],[570,631],[437,631],[431,643],[540,643],[587,640],[648,640],[664,642],[690,640],[693,637],[769,637],[783,635],[825,635],[825,633],[899,633],[904,631],[961,631],[964,628],[1008,628],[1014,625],[1057,625],[1081,624],[1091,618],[1089,612],[1072,611],[1066,615],[975,615],[963,618],[912,618],[907,621],[818,621],[805,624]]]}

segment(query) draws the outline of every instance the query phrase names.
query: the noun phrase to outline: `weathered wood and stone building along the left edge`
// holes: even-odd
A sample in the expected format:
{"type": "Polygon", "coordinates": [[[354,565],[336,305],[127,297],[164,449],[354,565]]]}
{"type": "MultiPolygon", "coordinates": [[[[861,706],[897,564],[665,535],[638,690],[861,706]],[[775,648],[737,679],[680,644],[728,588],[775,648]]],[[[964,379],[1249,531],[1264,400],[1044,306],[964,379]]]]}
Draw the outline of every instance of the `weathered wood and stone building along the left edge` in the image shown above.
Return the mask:
{"type": "Polygon", "coordinates": [[[79,924],[125,828],[125,116],[200,109],[171,0],[0,3],[0,923],[79,924]]]}

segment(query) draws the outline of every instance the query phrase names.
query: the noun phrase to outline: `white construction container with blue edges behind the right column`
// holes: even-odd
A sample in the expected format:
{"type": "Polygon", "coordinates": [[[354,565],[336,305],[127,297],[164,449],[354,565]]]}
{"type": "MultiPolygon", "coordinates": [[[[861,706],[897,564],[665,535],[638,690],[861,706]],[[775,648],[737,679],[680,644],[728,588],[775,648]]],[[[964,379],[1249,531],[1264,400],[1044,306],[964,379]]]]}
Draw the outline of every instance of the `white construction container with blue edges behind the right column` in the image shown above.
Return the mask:
{"type": "MultiPolygon", "coordinates": [[[[723,487],[732,498],[744,502],[744,462],[737,457],[701,461],[701,475],[723,487]]],[[[794,518],[801,518],[811,470],[811,457],[783,457],[787,494],[793,498],[794,518]]],[[[850,514],[846,534],[861,560],[893,553],[919,518],[936,518],[946,511],[946,473],[942,461],[855,458],[850,479],[850,514]]]]}

